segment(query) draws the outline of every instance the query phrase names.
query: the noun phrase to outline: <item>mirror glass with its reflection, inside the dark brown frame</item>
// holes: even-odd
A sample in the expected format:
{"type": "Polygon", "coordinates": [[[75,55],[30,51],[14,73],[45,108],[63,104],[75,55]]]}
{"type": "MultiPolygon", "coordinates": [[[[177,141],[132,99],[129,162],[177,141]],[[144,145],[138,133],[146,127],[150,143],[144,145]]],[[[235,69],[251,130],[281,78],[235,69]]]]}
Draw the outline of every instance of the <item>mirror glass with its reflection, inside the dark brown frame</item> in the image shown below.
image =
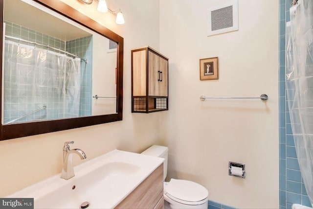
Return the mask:
{"type": "Polygon", "coordinates": [[[4,23],[3,124],[117,112],[115,42],[32,0],[5,0],[4,23]]]}

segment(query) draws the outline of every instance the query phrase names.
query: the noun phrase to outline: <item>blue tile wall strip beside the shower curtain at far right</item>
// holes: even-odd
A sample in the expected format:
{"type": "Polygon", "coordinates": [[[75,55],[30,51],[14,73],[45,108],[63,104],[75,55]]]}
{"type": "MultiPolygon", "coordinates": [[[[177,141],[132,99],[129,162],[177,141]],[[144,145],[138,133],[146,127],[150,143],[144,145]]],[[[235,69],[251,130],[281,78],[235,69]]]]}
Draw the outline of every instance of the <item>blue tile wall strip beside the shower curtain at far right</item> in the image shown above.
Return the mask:
{"type": "Polygon", "coordinates": [[[295,152],[285,87],[285,30],[292,0],[279,0],[279,208],[311,207],[295,152]]]}

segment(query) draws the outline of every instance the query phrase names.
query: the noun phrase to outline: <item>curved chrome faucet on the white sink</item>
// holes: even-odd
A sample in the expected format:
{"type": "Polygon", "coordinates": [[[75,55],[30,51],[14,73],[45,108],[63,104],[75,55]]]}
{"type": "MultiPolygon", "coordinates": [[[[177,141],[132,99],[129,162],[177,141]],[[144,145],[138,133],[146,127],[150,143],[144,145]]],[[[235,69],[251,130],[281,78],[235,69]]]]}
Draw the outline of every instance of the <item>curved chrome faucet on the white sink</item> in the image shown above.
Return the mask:
{"type": "Polygon", "coordinates": [[[70,149],[68,144],[73,144],[74,141],[66,141],[64,142],[63,146],[63,169],[61,178],[62,179],[70,179],[75,176],[74,169],[73,169],[73,161],[72,161],[72,155],[76,153],[79,155],[81,160],[86,159],[86,154],[80,149],[70,149]]]}

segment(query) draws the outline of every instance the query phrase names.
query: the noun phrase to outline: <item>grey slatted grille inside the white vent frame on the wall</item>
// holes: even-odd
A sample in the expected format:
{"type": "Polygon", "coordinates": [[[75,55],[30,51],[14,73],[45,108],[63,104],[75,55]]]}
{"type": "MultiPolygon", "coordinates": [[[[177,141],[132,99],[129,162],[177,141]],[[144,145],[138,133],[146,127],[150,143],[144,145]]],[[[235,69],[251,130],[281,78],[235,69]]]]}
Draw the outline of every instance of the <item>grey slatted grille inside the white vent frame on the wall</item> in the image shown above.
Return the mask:
{"type": "Polygon", "coordinates": [[[220,30],[233,26],[233,6],[211,11],[211,30],[220,30]]]}

